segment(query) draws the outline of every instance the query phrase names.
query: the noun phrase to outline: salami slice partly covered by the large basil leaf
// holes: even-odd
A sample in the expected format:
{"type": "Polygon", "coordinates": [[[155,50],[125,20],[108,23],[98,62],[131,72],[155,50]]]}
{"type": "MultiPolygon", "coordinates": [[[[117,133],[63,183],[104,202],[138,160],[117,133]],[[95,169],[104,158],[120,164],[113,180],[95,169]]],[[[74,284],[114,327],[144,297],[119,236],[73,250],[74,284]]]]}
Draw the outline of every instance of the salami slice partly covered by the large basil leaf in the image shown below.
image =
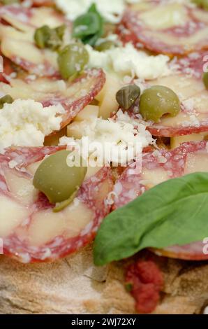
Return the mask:
{"type": "MultiPolygon", "coordinates": [[[[165,149],[144,153],[142,173],[135,172],[135,164],[128,167],[114,186],[114,209],[124,206],[158,183],[193,172],[208,171],[207,142],[184,143],[173,151],[165,149]]],[[[172,246],[161,255],[185,260],[205,260],[202,253],[205,245],[196,242],[188,246],[172,246]]]]}

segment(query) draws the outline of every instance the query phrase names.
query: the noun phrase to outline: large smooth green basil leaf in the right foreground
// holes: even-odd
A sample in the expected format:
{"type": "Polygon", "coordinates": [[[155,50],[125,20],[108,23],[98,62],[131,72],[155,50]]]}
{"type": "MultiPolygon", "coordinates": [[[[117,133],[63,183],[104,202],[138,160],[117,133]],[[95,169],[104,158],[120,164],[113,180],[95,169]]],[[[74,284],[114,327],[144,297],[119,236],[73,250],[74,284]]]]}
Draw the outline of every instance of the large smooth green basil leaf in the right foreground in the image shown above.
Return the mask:
{"type": "Polygon", "coordinates": [[[105,265],[147,247],[166,248],[208,236],[208,173],[171,179],[108,215],[94,243],[94,262],[105,265]]]}

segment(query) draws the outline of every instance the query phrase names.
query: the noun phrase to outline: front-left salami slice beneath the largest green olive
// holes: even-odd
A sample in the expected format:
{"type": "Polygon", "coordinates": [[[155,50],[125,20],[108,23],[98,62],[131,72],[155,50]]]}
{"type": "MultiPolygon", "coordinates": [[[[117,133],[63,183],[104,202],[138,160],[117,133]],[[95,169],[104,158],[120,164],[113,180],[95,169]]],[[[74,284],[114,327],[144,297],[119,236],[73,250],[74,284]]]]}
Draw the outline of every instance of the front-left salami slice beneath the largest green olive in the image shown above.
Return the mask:
{"type": "Polygon", "coordinates": [[[3,252],[21,262],[55,260],[77,251],[94,238],[110,211],[105,197],[113,186],[107,167],[88,172],[73,203],[59,213],[34,189],[32,179],[40,161],[60,149],[16,148],[0,155],[3,252]]]}

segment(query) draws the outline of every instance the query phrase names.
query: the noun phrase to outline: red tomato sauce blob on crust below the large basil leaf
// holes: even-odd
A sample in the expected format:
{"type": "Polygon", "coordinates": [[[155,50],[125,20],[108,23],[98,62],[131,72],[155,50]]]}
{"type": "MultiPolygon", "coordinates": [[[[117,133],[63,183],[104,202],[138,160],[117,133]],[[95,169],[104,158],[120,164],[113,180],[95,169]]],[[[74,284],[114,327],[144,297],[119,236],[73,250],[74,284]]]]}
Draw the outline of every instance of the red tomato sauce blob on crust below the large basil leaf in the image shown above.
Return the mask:
{"type": "Polygon", "coordinates": [[[163,274],[155,262],[139,260],[126,271],[126,286],[131,289],[138,313],[148,314],[156,309],[163,288],[163,274]]]}

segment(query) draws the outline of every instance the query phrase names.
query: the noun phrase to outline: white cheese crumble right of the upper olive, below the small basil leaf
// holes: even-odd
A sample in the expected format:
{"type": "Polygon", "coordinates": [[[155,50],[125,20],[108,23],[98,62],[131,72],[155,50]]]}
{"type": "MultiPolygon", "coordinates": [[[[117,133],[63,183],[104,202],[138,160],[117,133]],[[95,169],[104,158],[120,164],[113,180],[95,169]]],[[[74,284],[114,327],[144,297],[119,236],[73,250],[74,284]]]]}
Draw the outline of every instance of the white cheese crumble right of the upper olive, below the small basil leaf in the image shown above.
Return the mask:
{"type": "Polygon", "coordinates": [[[135,49],[131,43],[104,52],[98,52],[90,45],[86,45],[86,48],[89,52],[90,67],[102,67],[105,71],[114,71],[124,76],[138,76],[145,80],[166,76],[170,73],[168,56],[147,55],[146,52],[135,49]]]}

